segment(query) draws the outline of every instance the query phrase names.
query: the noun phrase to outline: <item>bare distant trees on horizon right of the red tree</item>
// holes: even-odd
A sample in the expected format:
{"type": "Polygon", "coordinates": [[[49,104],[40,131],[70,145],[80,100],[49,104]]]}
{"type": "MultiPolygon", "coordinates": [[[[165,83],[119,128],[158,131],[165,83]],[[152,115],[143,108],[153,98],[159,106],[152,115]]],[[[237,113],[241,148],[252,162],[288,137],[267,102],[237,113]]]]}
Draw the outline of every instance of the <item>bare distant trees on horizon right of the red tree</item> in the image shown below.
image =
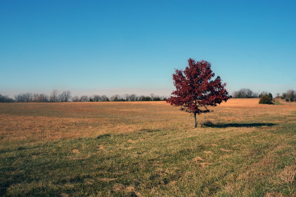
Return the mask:
{"type": "MultiPolygon", "coordinates": [[[[232,92],[232,98],[261,98],[264,95],[269,95],[269,93],[266,91],[253,92],[248,88],[242,88],[238,91],[232,92]]],[[[291,101],[291,102],[296,100],[296,92],[292,89],[287,90],[286,92],[283,92],[282,96],[280,94],[281,93],[277,93],[275,98],[282,98],[282,99],[285,99],[286,101],[291,101]]]]}

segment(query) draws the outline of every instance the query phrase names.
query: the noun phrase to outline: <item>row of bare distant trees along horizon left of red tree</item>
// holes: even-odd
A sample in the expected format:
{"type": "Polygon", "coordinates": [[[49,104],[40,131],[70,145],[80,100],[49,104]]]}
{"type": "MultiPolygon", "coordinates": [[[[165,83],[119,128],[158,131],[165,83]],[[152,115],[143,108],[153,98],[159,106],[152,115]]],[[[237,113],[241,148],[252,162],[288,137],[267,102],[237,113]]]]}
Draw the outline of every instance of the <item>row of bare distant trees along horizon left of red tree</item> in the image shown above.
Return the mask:
{"type": "Polygon", "coordinates": [[[103,102],[103,101],[166,101],[166,96],[158,96],[151,93],[149,96],[138,96],[136,94],[124,94],[124,95],[97,95],[93,94],[91,96],[83,95],[83,96],[71,96],[70,91],[60,92],[54,89],[50,95],[47,94],[32,94],[30,92],[21,93],[18,95],[14,95],[14,99],[9,96],[2,96],[0,94],[0,102],[1,103],[28,103],[28,102],[103,102]]]}

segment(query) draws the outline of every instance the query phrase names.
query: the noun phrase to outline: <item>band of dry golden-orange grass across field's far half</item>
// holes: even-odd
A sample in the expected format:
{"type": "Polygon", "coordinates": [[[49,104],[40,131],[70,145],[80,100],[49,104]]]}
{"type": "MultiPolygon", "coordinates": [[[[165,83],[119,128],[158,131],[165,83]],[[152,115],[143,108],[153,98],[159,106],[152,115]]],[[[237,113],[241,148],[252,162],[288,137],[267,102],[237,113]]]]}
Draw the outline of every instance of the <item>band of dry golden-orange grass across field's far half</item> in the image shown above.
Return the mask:
{"type": "MultiPolygon", "coordinates": [[[[214,113],[198,117],[199,123],[255,121],[280,116],[277,122],[294,122],[285,117],[296,110],[296,103],[260,105],[259,99],[230,99],[218,105],[214,113]]],[[[268,121],[268,119],[266,119],[268,121]]],[[[56,140],[126,133],[140,129],[192,129],[193,118],[164,101],[87,102],[87,103],[2,103],[0,137],[2,139],[56,140]]]]}

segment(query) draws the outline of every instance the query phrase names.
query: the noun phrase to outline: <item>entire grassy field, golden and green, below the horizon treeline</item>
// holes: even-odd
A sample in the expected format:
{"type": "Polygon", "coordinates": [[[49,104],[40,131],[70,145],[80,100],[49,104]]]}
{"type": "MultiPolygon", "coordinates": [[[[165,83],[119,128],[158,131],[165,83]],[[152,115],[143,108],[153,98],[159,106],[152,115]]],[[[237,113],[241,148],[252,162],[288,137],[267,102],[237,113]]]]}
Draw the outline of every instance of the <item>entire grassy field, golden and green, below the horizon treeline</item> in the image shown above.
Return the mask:
{"type": "Polygon", "coordinates": [[[296,196],[296,103],[1,103],[0,196],[296,196]]]}

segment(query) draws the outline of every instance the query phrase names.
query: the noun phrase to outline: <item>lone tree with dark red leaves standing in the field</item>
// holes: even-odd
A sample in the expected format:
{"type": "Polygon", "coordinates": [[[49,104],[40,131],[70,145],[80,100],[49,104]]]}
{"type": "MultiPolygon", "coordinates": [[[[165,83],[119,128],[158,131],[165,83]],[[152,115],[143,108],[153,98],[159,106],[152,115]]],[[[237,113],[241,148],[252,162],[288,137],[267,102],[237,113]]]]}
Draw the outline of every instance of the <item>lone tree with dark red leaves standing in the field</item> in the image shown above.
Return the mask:
{"type": "Polygon", "coordinates": [[[208,106],[226,102],[230,96],[225,89],[226,83],[221,83],[220,76],[211,80],[215,76],[211,63],[204,60],[195,63],[195,60],[189,59],[188,64],[184,71],[175,69],[173,80],[176,90],[172,92],[174,96],[167,99],[167,103],[181,106],[181,111],[194,114],[196,127],[196,114],[211,112],[208,106]]]}

